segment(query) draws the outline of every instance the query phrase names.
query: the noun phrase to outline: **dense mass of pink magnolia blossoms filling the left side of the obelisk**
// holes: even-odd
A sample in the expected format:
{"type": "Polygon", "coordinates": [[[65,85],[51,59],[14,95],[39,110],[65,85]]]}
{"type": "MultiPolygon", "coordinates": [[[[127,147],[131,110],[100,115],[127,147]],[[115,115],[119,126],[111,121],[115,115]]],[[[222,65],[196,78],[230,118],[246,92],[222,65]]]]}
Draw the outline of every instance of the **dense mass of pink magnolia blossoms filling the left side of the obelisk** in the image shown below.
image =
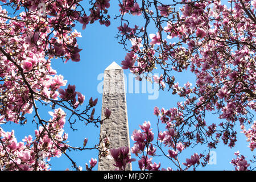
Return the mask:
{"type": "MultiPolygon", "coordinates": [[[[75,85],[61,88],[66,86],[67,80],[52,69],[51,59],[60,58],[65,63],[68,60],[80,61],[82,49],[77,38],[81,34],[73,29],[75,23],[80,22],[83,30],[96,20],[109,26],[109,0],[90,2],[89,14],[80,9],[80,1],[76,0],[2,2],[7,3],[6,6],[18,7],[19,11],[13,15],[6,11],[11,11],[11,8],[5,10],[0,6],[1,30],[5,30],[0,32],[0,76],[3,78],[0,84],[0,124],[15,122],[24,125],[27,123],[26,114],[34,110],[34,121],[39,130],[35,130],[35,137],[25,137],[23,143],[17,142],[14,131],[5,132],[0,127],[0,168],[48,170],[51,158],[59,157],[67,148],[72,148],[64,142],[68,138],[68,134],[63,134],[67,114],[56,106],[71,111],[71,117],[74,115],[85,122],[100,122],[100,119],[93,119],[94,108],[92,114],[88,114],[96,106],[97,99],[91,98],[86,110],[76,110],[84,103],[85,96],[76,91],[75,85]],[[54,109],[49,112],[52,119],[41,118],[38,102],[54,109]]],[[[110,110],[106,110],[106,118],[110,114],[110,110]]],[[[73,129],[71,118],[69,121],[73,129]]],[[[87,139],[84,146],[86,143],[87,139]]],[[[90,164],[89,169],[92,169],[95,160],[90,164]]],[[[80,169],[76,165],[73,167],[80,169]]]]}

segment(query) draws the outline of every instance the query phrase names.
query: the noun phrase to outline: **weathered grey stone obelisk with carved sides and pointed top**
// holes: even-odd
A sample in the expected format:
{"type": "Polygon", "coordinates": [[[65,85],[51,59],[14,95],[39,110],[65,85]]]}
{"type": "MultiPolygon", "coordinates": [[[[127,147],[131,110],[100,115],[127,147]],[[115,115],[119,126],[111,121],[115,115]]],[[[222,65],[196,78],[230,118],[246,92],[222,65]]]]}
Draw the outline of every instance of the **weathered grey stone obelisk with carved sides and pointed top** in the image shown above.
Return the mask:
{"type": "MultiPolygon", "coordinates": [[[[110,148],[129,147],[129,128],[126,107],[125,79],[123,69],[115,62],[110,64],[104,72],[102,96],[102,113],[104,119],[105,108],[111,110],[109,119],[101,124],[101,135],[110,134],[110,148]]],[[[99,171],[113,171],[113,159],[101,157],[98,160],[99,171]]],[[[131,163],[126,167],[131,170],[131,163]]]]}

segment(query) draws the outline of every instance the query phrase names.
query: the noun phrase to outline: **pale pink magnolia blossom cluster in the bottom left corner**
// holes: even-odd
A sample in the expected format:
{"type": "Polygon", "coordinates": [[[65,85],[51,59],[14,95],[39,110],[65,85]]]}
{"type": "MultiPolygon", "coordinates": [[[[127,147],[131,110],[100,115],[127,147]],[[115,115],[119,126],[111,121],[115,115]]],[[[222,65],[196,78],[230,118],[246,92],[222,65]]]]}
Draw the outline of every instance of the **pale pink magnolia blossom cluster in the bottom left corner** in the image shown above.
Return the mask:
{"type": "Polygon", "coordinates": [[[23,142],[18,142],[14,130],[3,131],[0,127],[2,170],[49,170],[49,160],[52,157],[59,158],[67,150],[68,145],[64,142],[67,140],[67,134],[63,134],[66,114],[60,108],[49,114],[52,116],[49,124],[45,128],[39,126],[39,130],[35,130],[35,139],[28,135],[23,142]]]}

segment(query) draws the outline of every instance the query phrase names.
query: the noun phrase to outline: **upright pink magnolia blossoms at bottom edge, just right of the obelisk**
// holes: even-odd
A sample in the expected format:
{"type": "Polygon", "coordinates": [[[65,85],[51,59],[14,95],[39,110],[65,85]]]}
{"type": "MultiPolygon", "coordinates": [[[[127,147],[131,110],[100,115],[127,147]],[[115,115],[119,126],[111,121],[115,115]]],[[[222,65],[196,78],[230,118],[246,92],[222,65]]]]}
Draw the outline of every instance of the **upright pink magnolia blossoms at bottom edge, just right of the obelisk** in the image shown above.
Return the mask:
{"type": "MultiPolygon", "coordinates": [[[[160,110],[158,107],[155,107],[154,114],[159,117],[159,115],[164,115],[164,110],[162,109],[162,113],[160,113],[160,110]]],[[[204,158],[204,163],[207,163],[209,160],[209,155],[205,156],[203,154],[193,154],[191,158],[187,158],[185,160],[185,163],[182,163],[185,168],[180,166],[180,162],[178,159],[178,155],[181,154],[181,152],[188,146],[188,144],[184,144],[183,142],[177,142],[177,139],[179,139],[179,136],[177,135],[177,131],[175,131],[174,125],[170,125],[167,123],[166,131],[163,133],[159,131],[158,133],[158,142],[164,143],[164,146],[168,146],[171,149],[168,150],[168,154],[164,154],[168,157],[168,159],[173,162],[178,170],[187,170],[190,167],[193,167],[195,169],[200,164],[200,159],[204,158]]],[[[144,122],[143,125],[139,125],[141,127],[141,130],[134,130],[133,135],[131,136],[131,139],[135,141],[134,146],[131,148],[131,152],[135,154],[136,156],[139,156],[140,160],[138,160],[139,168],[141,170],[150,170],[150,171],[158,171],[161,163],[152,163],[153,157],[156,155],[156,148],[154,146],[157,146],[160,148],[161,151],[163,151],[162,144],[152,144],[154,139],[154,134],[152,133],[152,129],[150,129],[151,125],[150,122],[144,122]],[[146,154],[145,154],[146,152],[146,154]],[[149,158],[149,156],[152,156],[149,158]]],[[[162,168],[161,170],[172,170],[172,168],[168,167],[162,168]]]]}

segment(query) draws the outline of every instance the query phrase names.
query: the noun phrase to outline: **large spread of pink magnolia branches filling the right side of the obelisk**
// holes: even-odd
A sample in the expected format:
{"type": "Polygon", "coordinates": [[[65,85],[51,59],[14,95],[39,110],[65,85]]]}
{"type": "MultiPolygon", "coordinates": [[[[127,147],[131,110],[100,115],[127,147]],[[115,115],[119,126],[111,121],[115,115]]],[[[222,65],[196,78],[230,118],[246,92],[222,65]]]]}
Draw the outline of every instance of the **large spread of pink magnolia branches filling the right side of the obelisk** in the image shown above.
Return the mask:
{"type": "MultiPolygon", "coordinates": [[[[133,7],[134,1],[125,2],[128,9],[133,7]]],[[[241,123],[242,133],[254,151],[256,124],[250,110],[255,111],[256,108],[256,85],[253,81],[256,34],[251,30],[255,29],[256,3],[238,0],[229,3],[232,3],[231,8],[221,1],[184,0],[177,2],[181,8],[176,10],[162,2],[145,1],[142,4],[145,11],[141,11],[146,17],[145,27],[137,29],[134,34],[127,26],[133,22],[124,21],[122,16],[121,22],[123,20],[126,27],[120,31],[119,38],[124,46],[125,38],[131,41],[129,53],[134,55],[132,63],[131,56],[122,62],[123,69],[131,69],[132,66],[131,72],[135,75],[147,75],[160,68],[162,74],[152,77],[154,81],[163,90],[171,90],[172,94],[184,100],[171,109],[154,108],[154,114],[166,126],[166,131],[159,131],[158,140],[171,147],[166,156],[174,161],[180,152],[177,149],[179,142],[184,148],[195,142],[205,143],[211,149],[222,140],[227,146],[234,147],[237,142],[236,122],[241,123]],[[147,32],[152,22],[156,34],[147,32]],[[172,75],[188,69],[195,75],[195,85],[192,87],[191,82],[187,82],[180,86],[172,75]],[[205,115],[210,112],[217,113],[224,122],[206,121],[205,115]],[[247,130],[248,123],[251,128],[247,130]]],[[[121,8],[122,15],[129,12],[126,7],[121,8]]],[[[145,138],[143,132],[134,131],[133,138],[136,144],[132,151],[142,154],[143,142],[140,140],[145,138]]],[[[207,162],[208,156],[195,153],[184,164],[195,167],[202,158],[207,162]]],[[[151,159],[143,158],[141,167],[149,161],[151,159]]]]}

